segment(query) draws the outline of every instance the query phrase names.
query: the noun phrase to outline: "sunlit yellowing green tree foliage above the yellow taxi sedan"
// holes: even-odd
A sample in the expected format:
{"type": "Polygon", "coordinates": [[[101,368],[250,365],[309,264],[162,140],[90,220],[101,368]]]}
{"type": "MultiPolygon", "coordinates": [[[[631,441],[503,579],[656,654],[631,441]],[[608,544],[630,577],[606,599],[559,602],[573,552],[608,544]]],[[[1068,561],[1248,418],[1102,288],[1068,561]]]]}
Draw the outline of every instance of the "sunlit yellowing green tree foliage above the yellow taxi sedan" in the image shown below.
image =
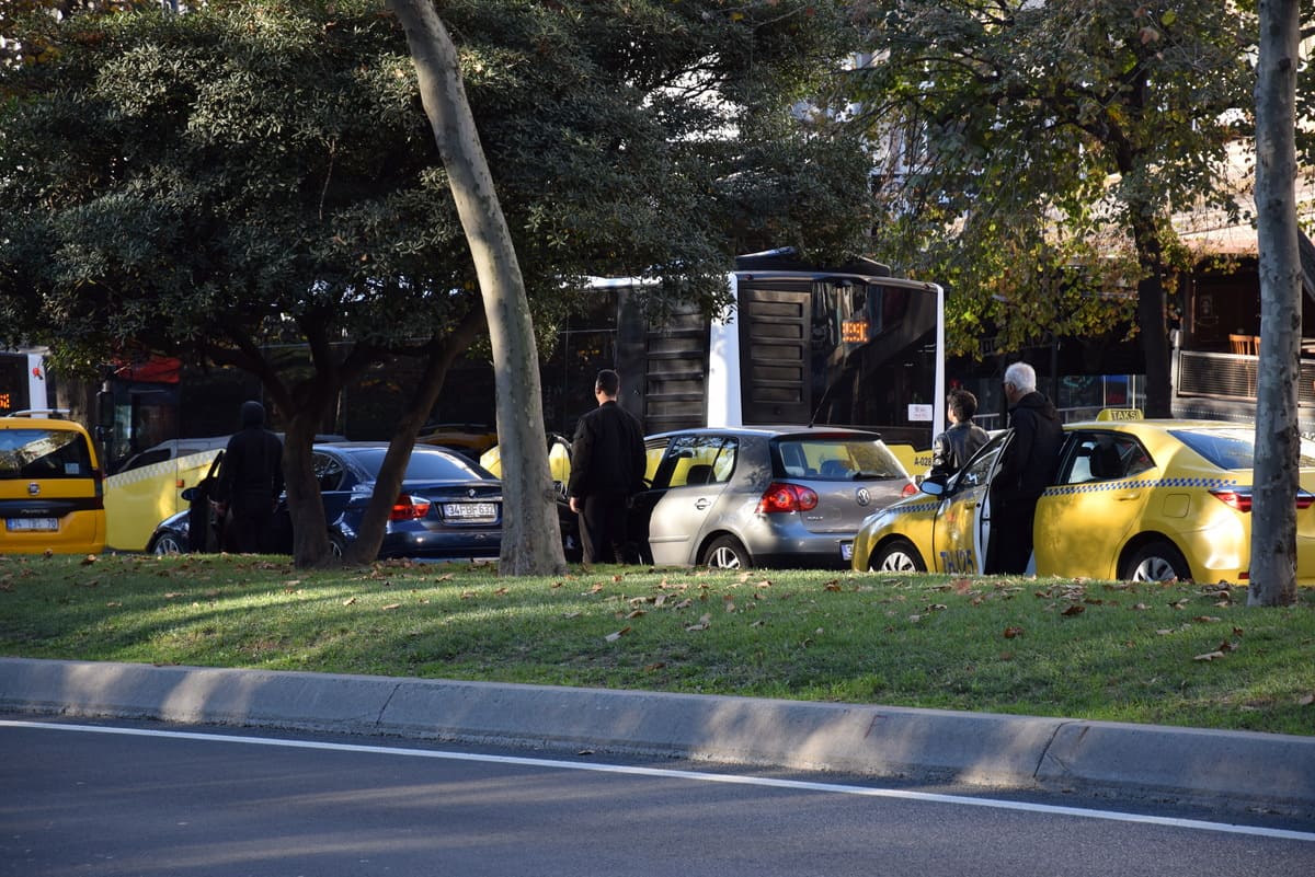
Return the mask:
{"type": "Polygon", "coordinates": [[[880,249],[948,282],[960,352],[988,326],[1005,349],[1105,331],[1134,301],[1110,293],[1147,277],[1172,289],[1189,268],[1170,217],[1237,215],[1226,171],[1251,130],[1244,9],[873,0],[863,11],[874,60],[856,88],[889,147],[880,249]]]}

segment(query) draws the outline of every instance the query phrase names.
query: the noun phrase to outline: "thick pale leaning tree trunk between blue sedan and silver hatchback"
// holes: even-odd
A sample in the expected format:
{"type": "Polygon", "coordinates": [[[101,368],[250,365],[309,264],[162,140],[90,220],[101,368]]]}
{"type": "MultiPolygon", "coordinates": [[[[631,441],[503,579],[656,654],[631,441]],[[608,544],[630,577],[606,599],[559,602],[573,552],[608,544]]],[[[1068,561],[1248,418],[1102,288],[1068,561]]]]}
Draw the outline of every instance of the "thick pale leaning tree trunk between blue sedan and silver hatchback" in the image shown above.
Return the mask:
{"type": "Polygon", "coordinates": [[[538,348],[512,235],[493,189],[456,47],[430,0],[389,0],[406,32],[421,100],[451,181],[484,297],[502,458],[501,575],[565,571],[539,390],[538,348]]]}

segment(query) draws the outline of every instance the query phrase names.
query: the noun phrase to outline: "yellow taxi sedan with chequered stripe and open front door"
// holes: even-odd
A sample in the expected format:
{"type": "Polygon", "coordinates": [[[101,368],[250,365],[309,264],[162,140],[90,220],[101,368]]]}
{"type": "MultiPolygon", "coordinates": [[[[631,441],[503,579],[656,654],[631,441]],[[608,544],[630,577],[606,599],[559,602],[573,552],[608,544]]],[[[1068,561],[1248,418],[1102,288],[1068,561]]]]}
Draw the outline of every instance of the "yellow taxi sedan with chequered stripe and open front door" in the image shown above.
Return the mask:
{"type": "MultiPolygon", "coordinates": [[[[1036,505],[1038,575],[1248,582],[1255,427],[1102,412],[1064,435],[1055,483],[1036,505]]],[[[871,515],[853,568],[981,574],[989,486],[1009,440],[994,436],[948,482],[924,482],[871,515]]],[[[1315,444],[1304,440],[1293,502],[1298,583],[1315,586],[1315,444]]]]}

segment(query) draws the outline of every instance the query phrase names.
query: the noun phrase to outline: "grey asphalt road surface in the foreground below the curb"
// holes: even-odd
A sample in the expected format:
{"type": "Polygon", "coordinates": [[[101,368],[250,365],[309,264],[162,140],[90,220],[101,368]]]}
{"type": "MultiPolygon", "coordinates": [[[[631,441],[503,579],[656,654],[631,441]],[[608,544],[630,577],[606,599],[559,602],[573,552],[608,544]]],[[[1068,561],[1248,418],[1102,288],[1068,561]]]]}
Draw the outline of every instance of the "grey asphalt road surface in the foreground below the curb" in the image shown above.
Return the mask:
{"type": "Polygon", "coordinates": [[[4,721],[0,789],[16,877],[1315,873],[1312,826],[388,738],[4,721]]]}

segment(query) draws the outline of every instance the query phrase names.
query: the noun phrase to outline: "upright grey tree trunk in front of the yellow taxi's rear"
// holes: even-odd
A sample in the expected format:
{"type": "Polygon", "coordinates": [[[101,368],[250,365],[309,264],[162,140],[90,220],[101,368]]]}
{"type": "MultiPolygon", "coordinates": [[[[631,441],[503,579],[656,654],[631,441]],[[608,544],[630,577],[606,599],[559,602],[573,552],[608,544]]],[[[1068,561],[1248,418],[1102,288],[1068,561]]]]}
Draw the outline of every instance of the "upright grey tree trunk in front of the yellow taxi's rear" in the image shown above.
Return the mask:
{"type": "Polygon", "coordinates": [[[1301,433],[1297,379],[1302,333],[1297,244],[1295,95],[1298,0],[1261,0],[1256,77],[1256,215],[1260,249],[1260,382],[1252,481],[1248,605],[1297,601],[1301,433]]]}

